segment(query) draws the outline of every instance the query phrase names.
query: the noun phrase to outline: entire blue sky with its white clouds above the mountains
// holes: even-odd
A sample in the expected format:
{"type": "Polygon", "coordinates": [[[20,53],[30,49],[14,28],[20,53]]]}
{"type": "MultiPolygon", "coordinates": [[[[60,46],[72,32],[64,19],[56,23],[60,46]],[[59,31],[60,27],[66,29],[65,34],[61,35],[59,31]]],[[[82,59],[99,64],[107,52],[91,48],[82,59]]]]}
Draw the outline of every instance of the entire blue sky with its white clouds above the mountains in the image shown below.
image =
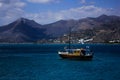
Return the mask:
{"type": "Polygon", "coordinates": [[[49,24],[102,14],[120,16],[120,0],[0,0],[0,26],[21,17],[49,24]]]}

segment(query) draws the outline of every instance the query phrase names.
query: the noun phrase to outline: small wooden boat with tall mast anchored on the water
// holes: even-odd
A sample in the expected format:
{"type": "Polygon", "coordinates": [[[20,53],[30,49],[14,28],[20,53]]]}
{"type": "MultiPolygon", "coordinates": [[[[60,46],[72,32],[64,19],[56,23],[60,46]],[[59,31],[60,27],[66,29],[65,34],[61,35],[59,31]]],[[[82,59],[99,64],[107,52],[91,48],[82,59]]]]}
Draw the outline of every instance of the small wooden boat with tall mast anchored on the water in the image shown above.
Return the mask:
{"type": "MultiPolygon", "coordinates": [[[[70,31],[71,32],[71,31],[70,31]]],[[[58,51],[58,54],[63,59],[79,59],[79,60],[92,60],[93,52],[89,49],[89,46],[86,48],[72,49],[71,48],[71,33],[69,34],[69,48],[64,51],[58,51]]]]}

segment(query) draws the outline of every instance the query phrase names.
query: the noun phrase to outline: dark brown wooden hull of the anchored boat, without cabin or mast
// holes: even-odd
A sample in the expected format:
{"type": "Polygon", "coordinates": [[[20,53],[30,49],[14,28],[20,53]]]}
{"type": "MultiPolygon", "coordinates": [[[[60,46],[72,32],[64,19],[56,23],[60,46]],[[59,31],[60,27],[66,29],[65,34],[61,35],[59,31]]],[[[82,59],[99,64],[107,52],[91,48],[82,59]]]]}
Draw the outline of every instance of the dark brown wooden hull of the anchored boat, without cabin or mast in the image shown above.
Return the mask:
{"type": "Polygon", "coordinates": [[[77,59],[77,60],[92,60],[93,55],[80,56],[80,55],[69,55],[69,54],[59,54],[63,59],[77,59]]]}

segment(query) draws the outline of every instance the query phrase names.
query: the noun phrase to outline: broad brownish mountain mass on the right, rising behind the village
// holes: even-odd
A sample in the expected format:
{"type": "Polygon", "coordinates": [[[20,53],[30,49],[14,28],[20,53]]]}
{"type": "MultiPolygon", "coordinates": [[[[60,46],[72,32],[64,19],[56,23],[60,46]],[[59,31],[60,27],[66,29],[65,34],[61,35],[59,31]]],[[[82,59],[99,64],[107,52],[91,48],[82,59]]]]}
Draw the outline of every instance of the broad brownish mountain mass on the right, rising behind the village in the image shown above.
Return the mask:
{"type": "Polygon", "coordinates": [[[53,37],[60,37],[69,33],[69,28],[77,39],[93,38],[92,42],[109,42],[120,40],[120,17],[101,15],[96,18],[80,20],[60,20],[45,25],[46,33],[53,37]]]}

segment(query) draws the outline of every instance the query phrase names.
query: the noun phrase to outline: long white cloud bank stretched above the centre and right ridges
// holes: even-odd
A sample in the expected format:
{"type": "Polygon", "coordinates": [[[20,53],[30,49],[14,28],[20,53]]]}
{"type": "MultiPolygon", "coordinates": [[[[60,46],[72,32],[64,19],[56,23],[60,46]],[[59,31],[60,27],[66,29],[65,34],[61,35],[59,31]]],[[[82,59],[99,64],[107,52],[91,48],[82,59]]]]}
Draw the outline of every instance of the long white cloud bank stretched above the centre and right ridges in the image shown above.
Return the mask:
{"type": "Polygon", "coordinates": [[[47,24],[58,20],[81,19],[86,17],[97,17],[102,14],[117,15],[113,9],[105,9],[94,5],[71,8],[58,12],[30,13],[25,17],[33,19],[38,23],[47,24]]]}

